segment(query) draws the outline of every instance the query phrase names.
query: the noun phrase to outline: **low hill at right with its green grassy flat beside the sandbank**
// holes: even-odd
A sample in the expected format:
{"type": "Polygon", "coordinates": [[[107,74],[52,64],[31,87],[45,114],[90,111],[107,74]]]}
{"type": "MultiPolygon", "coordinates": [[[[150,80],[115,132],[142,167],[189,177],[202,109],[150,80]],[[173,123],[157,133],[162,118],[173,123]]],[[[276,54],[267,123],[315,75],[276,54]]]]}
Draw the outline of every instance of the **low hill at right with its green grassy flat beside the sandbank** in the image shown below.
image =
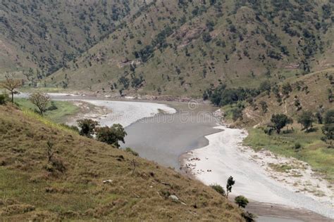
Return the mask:
{"type": "Polygon", "coordinates": [[[263,89],[259,96],[225,105],[222,109],[230,124],[247,128],[249,135],[245,145],[256,151],[267,149],[307,162],[316,174],[333,183],[334,149],[323,141],[321,130],[326,112],[334,109],[333,76],[332,68],[292,77],[278,84],[266,81],[267,84],[261,84],[263,89]],[[314,116],[310,131],[298,123],[304,111],[314,116]],[[281,133],[268,133],[272,115],[278,114],[287,115],[293,123],[287,124],[281,133]]]}

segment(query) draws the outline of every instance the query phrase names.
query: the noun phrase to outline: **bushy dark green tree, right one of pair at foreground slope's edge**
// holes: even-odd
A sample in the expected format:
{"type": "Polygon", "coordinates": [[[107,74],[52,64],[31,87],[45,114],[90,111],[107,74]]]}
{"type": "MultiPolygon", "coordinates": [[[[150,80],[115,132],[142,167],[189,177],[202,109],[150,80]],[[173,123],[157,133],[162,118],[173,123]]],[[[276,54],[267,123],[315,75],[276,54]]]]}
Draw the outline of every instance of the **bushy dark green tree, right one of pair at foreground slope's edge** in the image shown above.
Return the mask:
{"type": "Polygon", "coordinates": [[[127,133],[124,131],[124,128],[120,124],[113,124],[113,126],[104,126],[97,129],[97,140],[113,145],[116,148],[119,148],[120,145],[118,141],[125,143],[124,138],[127,133]]]}

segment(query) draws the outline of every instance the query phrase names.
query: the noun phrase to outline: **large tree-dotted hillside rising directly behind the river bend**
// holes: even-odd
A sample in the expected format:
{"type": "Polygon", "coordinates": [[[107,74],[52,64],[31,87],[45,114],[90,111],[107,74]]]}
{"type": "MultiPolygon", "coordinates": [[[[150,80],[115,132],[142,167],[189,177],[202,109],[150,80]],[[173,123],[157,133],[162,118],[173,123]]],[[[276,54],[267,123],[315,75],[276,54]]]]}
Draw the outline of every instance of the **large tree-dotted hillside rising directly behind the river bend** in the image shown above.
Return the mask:
{"type": "Polygon", "coordinates": [[[202,96],[333,64],[333,2],[154,1],[49,86],[202,96]]]}

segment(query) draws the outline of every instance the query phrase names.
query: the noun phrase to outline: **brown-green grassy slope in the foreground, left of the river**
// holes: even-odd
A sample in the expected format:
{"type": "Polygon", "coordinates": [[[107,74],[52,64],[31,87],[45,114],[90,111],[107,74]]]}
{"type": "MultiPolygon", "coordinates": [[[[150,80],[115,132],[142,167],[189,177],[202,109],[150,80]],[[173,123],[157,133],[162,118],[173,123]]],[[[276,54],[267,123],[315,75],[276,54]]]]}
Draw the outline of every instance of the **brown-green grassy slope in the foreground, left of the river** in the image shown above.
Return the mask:
{"type": "Polygon", "coordinates": [[[4,221],[242,221],[202,183],[10,105],[0,106],[0,188],[4,221]]]}

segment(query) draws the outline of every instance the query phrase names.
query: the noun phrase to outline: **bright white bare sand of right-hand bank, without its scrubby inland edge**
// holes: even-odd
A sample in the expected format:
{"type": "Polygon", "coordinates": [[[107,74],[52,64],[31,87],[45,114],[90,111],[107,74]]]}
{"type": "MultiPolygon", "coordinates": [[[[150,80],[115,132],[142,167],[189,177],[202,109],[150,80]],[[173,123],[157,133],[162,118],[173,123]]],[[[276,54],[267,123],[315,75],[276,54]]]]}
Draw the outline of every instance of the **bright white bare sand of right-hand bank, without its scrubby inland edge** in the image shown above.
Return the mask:
{"type": "MultiPolygon", "coordinates": [[[[226,126],[215,128],[223,131],[206,136],[209,145],[188,152],[183,160],[183,167],[187,167],[187,171],[190,170],[199,181],[206,185],[219,184],[225,187],[228,177],[233,176],[236,181],[233,195],[244,195],[258,202],[304,208],[334,218],[333,192],[330,189],[322,190],[326,197],[317,198],[297,191],[293,185],[280,181],[280,178],[274,179],[270,171],[263,167],[266,164],[261,166],[252,158],[254,154],[260,154],[241,145],[247,131],[226,126]]],[[[273,159],[276,159],[274,155],[273,159]]],[[[326,181],[319,180],[320,183],[326,184],[326,181]]],[[[320,187],[325,189],[326,185],[320,187]]]]}

